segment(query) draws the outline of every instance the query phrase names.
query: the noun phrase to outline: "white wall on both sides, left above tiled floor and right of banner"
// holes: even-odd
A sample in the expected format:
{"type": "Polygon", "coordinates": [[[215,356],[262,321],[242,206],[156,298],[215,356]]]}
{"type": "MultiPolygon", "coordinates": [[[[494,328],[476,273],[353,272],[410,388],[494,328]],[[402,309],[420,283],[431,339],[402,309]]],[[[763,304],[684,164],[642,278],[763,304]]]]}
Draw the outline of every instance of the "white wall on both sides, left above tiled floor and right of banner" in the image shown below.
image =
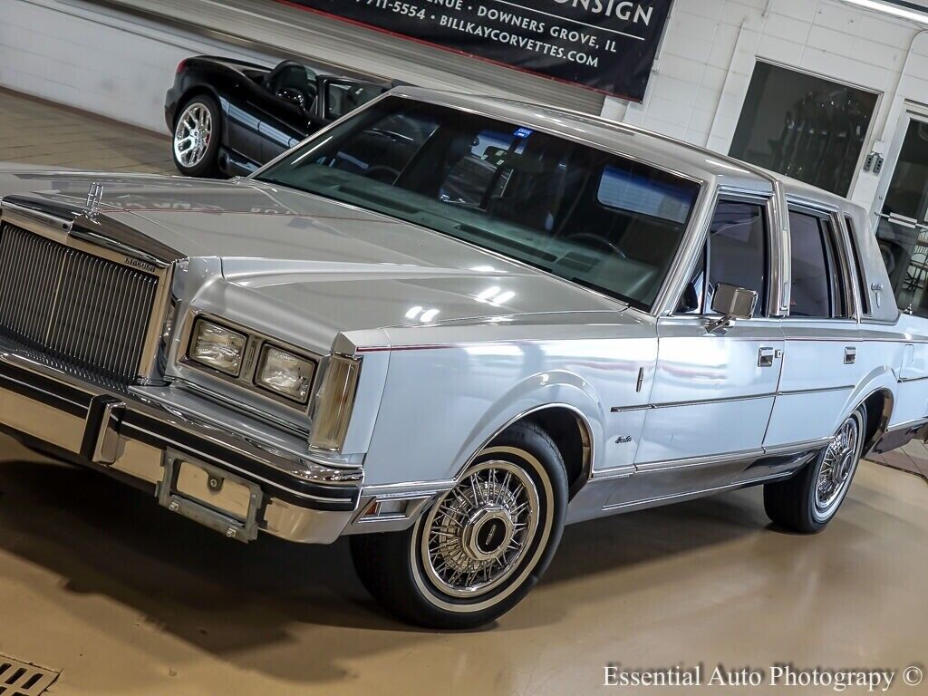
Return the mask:
{"type": "MultiPolygon", "coordinates": [[[[274,62],[81,0],[0,0],[0,10],[0,84],[153,130],[164,130],[182,58],[274,62]]],[[[728,152],[763,58],[881,93],[866,150],[887,152],[907,100],[928,105],[923,29],[840,0],[675,0],[644,103],[610,98],[603,115],[728,152]]],[[[852,197],[879,206],[878,184],[861,173],[852,197]]]]}

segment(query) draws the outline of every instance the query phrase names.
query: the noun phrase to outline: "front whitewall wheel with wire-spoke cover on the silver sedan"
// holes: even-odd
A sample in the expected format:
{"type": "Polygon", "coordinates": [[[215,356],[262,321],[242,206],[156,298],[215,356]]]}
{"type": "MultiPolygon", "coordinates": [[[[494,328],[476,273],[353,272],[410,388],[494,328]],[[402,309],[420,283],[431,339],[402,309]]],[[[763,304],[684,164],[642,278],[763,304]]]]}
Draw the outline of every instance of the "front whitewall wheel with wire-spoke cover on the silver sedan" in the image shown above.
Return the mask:
{"type": "Polygon", "coordinates": [[[401,619],[465,629],[518,604],[561,541],[567,477],[535,423],[487,445],[459,483],[406,532],[352,537],[364,586],[401,619]]]}

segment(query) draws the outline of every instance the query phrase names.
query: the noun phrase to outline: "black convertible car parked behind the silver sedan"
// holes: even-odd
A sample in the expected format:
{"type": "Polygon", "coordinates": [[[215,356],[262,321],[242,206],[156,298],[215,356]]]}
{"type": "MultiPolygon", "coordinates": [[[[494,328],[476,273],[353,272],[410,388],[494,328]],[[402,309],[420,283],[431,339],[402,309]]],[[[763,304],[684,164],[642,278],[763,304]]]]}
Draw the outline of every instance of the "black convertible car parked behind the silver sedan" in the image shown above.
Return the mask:
{"type": "Polygon", "coordinates": [[[284,60],[274,68],[198,56],[177,66],[164,99],[181,174],[249,174],[393,84],[322,74],[284,60]]]}

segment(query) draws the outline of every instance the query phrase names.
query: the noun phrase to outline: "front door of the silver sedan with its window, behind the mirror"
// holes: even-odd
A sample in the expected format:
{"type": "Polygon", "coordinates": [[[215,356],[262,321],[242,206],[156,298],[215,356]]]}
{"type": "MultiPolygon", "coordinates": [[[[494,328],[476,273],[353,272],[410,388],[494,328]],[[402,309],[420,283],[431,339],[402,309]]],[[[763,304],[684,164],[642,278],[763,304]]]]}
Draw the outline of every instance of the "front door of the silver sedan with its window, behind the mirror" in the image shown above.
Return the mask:
{"type": "Polygon", "coordinates": [[[783,349],[779,319],[766,316],[770,230],[767,201],[719,201],[677,314],[658,321],[639,471],[674,470],[681,485],[710,488],[730,483],[744,459],[761,453],[783,349]],[[755,290],[756,314],[710,332],[720,283],[755,290]]]}

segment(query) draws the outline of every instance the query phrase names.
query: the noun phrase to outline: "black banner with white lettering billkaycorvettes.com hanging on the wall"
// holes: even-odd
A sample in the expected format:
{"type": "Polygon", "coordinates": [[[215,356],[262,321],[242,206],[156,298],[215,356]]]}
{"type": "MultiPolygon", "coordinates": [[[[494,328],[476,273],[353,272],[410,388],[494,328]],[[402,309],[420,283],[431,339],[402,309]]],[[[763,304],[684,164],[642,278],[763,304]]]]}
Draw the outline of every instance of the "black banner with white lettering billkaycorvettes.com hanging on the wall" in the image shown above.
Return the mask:
{"type": "Polygon", "coordinates": [[[673,0],[289,0],[634,101],[673,0]]]}

